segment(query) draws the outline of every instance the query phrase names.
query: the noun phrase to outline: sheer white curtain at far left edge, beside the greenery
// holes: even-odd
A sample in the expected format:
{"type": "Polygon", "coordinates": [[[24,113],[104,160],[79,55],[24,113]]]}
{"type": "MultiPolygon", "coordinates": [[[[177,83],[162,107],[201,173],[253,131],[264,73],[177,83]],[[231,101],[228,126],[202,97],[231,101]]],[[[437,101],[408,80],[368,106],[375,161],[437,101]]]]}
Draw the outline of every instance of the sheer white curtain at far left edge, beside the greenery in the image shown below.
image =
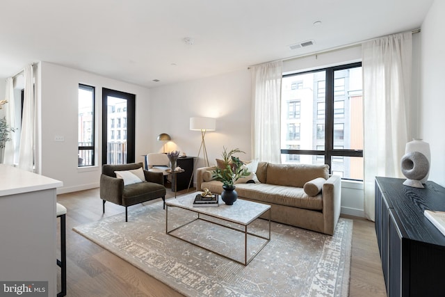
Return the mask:
{"type": "MultiPolygon", "coordinates": [[[[15,122],[15,99],[14,99],[14,81],[12,77],[6,79],[6,95],[5,95],[7,104],[3,105],[6,109],[6,124],[10,125],[10,127],[16,128],[15,122]]],[[[19,131],[15,131],[10,133],[9,138],[10,141],[5,143],[5,150],[3,156],[3,163],[14,165],[15,164],[15,147],[17,143],[17,134],[19,131]]]]}

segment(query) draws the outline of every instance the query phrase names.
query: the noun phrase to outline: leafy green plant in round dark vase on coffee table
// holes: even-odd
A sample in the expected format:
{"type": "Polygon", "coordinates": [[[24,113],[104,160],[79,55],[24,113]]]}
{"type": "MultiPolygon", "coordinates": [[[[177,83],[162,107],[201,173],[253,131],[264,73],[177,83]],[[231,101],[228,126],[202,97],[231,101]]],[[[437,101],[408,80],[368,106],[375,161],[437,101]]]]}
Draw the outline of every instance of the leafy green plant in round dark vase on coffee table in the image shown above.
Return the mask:
{"type": "Polygon", "coordinates": [[[227,152],[227,149],[225,147],[223,148],[223,167],[217,167],[215,170],[213,170],[212,177],[213,179],[223,182],[224,191],[221,193],[221,199],[225,202],[225,204],[232,205],[238,198],[238,193],[236,193],[234,186],[235,182],[240,177],[247,177],[250,175],[250,172],[248,171],[248,168],[243,166],[243,161],[241,161],[238,157],[233,156],[233,154],[241,152],[245,154],[245,152],[239,150],[238,148],[227,152]]]}

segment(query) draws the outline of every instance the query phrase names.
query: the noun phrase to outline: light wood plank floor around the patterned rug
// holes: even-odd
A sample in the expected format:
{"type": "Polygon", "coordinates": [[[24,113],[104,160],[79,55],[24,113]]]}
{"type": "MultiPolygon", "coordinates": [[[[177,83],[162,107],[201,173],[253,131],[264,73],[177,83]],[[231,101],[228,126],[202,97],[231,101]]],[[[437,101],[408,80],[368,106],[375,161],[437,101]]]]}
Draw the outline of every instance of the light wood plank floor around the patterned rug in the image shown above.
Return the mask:
{"type": "MultiPolygon", "coordinates": [[[[168,191],[167,198],[174,195],[168,191]]],[[[57,200],[67,208],[67,296],[182,296],[72,231],[77,225],[120,214],[124,207],[107,202],[106,212],[102,214],[98,188],[58,195],[57,200]]],[[[140,204],[133,207],[140,207],[140,204]]],[[[350,296],[387,296],[374,224],[362,218],[353,220],[350,296]]]]}

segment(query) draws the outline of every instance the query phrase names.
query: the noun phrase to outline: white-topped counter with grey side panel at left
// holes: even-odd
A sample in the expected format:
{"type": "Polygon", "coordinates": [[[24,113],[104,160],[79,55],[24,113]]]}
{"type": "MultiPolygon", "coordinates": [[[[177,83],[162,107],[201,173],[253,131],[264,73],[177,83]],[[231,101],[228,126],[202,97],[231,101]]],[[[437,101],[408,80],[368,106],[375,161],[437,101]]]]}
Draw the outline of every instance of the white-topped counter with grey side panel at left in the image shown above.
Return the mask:
{"type": "Polygon", "coordinates": [[[56,188],[63,183],[0,164],[0,281],[48,282],[56,295],[56,188]]]}

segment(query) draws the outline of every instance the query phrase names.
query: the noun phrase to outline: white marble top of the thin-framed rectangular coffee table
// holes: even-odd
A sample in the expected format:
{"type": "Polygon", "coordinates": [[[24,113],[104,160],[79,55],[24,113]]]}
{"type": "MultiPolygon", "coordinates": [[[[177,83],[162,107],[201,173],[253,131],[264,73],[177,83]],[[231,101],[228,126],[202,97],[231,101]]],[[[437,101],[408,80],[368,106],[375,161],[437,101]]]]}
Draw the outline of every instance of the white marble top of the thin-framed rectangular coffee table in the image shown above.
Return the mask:
{"type": "Polygon", "coordinates": [[[201,192],[193,192],[182,195],[176,199],[165,200],[165,204],[171,207],[181,207],[195,211],[199,214],[206,214],[214,218],[222,218],[223,220],[229,220],[230,222],[241,225],[249,225],[253,220],[270,209],[270,205],[268,204],[242,200],[240,198],[238,198],[233,205],[227,205],[221,200],[221,195],[219,195],[218,207],[193,207],[193,201],[198,193],[201,192]]]}

